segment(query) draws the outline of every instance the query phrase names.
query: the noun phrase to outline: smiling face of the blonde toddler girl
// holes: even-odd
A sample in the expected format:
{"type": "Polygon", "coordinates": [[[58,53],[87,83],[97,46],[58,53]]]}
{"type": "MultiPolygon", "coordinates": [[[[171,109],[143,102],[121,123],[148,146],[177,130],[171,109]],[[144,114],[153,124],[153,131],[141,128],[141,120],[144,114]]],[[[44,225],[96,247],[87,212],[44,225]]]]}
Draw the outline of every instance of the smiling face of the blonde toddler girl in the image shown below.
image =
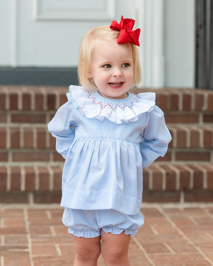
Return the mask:
{"type": "Polygon", "coordinates": [[[93,53],[89,78],[93,78],[98,92],[105,98],[123,99],[133,83],[133,52],[130,43],[116,41],[99,45],[93,53]]]}

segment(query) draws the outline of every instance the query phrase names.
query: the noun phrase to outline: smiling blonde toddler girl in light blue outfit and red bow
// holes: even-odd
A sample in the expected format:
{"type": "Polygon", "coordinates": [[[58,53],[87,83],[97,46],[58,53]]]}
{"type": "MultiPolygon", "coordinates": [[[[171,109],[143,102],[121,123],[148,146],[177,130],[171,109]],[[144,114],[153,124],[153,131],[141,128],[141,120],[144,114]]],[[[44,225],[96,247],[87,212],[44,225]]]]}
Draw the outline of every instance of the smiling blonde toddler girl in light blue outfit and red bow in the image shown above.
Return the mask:
{"type": "Polygon", "coordinates": [[[142,168],[164,156],[171,135],[155,93],[133,95],[140,82],[135,20],[90,30],[83,38],[78,76],[49,131],[66,159],[63,224],[73,235],[74,265],[130,265],[131,236],[143,225],[142,168]]]}

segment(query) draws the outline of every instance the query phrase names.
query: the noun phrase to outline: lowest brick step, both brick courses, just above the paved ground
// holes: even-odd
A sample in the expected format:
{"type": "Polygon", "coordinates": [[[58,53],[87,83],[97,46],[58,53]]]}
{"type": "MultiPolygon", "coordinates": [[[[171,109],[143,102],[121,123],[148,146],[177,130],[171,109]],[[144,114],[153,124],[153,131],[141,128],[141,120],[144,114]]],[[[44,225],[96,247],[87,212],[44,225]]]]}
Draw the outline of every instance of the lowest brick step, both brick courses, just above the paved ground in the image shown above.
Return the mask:
{"type": "MultiPolygon", "coordinates": [[[[59,203],[62,164],[1,166],[0,203],[59,203]]],[[[144,169],[143,202],[212,202],[213,166],[158,164],[144,169]]]]}

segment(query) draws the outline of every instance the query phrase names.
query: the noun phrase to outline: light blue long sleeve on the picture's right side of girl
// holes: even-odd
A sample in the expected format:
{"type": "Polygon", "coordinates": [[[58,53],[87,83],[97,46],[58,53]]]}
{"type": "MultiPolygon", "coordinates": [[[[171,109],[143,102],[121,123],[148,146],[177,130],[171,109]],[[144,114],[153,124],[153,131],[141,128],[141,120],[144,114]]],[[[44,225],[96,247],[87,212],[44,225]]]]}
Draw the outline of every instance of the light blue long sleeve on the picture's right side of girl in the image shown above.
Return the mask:
{"type": "Polygon", "coordinates": [[[162,110],[155,106],[147,115],[146,127],[140,142],[143,168],[151,165],[158,157],[163,157],[167,151],[168,143],[172,140],[171,134],[165,125],[162,110]]]}

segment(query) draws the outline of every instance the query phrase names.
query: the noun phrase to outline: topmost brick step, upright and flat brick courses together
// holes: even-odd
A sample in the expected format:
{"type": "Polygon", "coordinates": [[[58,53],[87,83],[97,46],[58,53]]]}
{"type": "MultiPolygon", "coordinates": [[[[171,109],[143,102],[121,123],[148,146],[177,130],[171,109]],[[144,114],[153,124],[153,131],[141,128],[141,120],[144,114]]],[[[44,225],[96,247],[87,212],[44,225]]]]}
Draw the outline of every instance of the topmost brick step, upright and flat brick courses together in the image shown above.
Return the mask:
{"type": "MultiPolygon", "coordinates": [[[[213,123],[213,92],[163,88],[135,88],[133,93],[155,92],[156,104],[167,123],[213,123]]],[[[0,123],[47,124],[67,101],[67,87],[0,86],[0,123]]]]}

